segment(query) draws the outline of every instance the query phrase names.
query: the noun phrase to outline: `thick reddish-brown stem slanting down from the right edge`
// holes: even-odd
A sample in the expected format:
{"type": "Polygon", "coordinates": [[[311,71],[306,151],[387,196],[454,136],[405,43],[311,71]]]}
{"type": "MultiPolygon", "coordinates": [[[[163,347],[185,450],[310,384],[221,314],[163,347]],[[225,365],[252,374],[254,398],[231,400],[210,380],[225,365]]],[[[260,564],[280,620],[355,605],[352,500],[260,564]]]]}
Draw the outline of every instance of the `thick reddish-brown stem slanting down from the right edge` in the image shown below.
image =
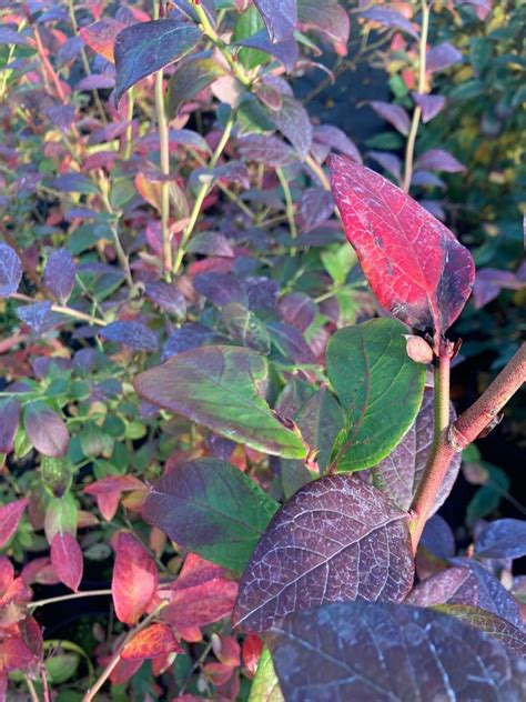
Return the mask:
{"type": "MultiPolygon", "coordinates": [[[[425,523],[454,454],[477,439],[525,380],[526,344],[523,344],[478,400],[461,414],[456,422],[442,429],[433,442],[429,459],[411,509],[409,531],[414,553],[416,553],[425,523]]],[[[439,389],[435,388],[435,391],[437,390],[439,392],[439,389]]]]}

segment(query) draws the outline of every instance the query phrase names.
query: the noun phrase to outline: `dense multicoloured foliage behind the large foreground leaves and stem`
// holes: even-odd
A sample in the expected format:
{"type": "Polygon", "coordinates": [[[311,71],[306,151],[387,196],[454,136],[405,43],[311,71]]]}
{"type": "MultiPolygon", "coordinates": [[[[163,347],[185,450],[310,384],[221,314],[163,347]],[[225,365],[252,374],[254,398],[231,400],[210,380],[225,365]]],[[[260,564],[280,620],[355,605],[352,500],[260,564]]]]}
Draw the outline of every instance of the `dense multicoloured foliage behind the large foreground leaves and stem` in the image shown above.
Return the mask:
{"type": "MultiPolygon", "coordinates": [[[[290,438],[270,455],[255,430],[236,443],[132,383],[189,350],[253,349],[270,365],[257,389],[327,467],[343,424],[327,341],[383,314],[334,212],[330,152],[405,187],[472,251],[452,332],[458,410],[517,347],[526,6],[432,3],[422,71],[419,2],[299,0],[297,18],[274,4],[0,0],[0,699],[82,700],[163,585],[170,626],[118,659],[102,694],[249,699],[263,644],[230,623],[239,568],[171,542],[141,509],[156,479],[209,458],[262,488],[270,519],[313,465],[290,438]],[[178,26],[178,56],[141,43],[158,18],[178,26]],[[95,592],[62,599],[72,590],[95,592]]],[[[441,511],[455,553],[486,520],[524,517],[524,424],[514,401],[465,452],[441,511]]],[[[432,555],[421,578],[445,566],[432,555]]],[[[489,570],[524,603],[522,561],[489,570]]]]}

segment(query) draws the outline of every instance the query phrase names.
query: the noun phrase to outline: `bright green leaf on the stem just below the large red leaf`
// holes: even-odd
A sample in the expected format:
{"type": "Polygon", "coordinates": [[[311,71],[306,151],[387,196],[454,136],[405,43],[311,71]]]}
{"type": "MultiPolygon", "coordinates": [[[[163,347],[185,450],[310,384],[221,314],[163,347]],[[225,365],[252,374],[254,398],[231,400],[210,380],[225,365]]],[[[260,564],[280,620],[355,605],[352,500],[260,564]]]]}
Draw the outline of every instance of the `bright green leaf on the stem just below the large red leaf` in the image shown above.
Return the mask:
{"type": "Polygon", "coordinates": [[[406,328],[375,319],[337,331],[327,345],[327,374],[347,412],[332,460],[338,471],[376,465],[413,424],[425,367],[406,352],[406,328]]]}

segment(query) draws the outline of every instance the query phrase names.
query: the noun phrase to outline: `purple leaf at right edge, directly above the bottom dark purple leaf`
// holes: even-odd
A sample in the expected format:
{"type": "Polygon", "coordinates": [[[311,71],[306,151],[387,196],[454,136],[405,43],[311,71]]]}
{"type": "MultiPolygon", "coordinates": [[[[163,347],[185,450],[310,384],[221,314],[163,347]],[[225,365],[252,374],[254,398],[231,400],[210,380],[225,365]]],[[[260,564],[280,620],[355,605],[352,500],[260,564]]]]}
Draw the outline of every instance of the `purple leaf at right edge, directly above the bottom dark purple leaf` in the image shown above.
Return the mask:
{"type": "Polygon", "coordinates": [[[452,562],[458,565],[427,578],[405,601],[417,606],[471,604],[520,625],[517,604],[496,578],[474,561],[453,559],[452,562]]]}

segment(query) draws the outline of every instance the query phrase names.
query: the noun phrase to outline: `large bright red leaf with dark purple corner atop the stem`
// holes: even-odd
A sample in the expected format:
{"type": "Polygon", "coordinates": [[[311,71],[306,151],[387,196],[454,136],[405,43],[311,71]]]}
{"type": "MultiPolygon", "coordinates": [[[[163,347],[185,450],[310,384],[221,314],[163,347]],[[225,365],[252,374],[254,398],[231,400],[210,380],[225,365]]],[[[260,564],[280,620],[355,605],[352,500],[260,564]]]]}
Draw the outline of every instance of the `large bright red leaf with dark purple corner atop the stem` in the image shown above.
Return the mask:
{"type": "Polygon", "coordinates": [[[438,220],[385,178],[332,157],[332,190],[345,233],[381,304],[438,339],[469,297],[472,255],[438,220]]]}

